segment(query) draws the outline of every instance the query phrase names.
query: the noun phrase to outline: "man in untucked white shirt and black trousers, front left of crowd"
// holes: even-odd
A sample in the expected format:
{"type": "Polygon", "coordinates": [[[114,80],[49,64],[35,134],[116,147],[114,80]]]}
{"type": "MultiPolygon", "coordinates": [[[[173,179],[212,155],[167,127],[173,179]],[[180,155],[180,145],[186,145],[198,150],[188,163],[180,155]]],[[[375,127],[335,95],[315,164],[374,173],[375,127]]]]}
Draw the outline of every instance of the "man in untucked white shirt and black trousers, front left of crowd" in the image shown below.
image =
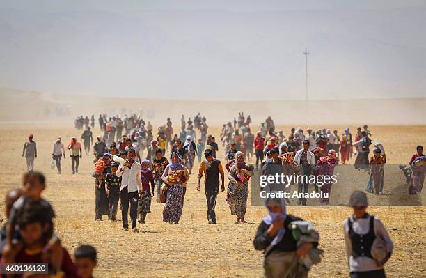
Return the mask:
{"type": "Polygon", "coordinates": [[[120,164],[117,176],[121,177],[120,200],[121,200],[121,217],[123,219],[123,228],[125,231],[129,229],[127,215],[130,203],[130,219],[132,220],[132,231],[137,232],[136,218],[138,216],[139,193],[142,192],[141,180],[141,164],[134,159],[136,153],[133,148],[127,150],[127,160],[129,162],[120,164]]]}

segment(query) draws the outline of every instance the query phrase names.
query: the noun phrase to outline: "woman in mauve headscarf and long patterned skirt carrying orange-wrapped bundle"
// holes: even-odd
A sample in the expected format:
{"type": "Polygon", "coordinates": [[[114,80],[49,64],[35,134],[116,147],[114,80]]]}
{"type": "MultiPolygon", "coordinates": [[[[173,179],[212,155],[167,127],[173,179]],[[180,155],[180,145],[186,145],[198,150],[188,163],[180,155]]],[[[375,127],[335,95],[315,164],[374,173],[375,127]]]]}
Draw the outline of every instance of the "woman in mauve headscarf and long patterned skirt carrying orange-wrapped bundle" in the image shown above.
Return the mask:
{"type": "Polygon", "coordinates": [[[171,162],[164,169],[161,176],[164,185],[161,191],[166,194],[166,203],[163,210],[163,221],[178,224],[182,215],[184,191],[186,191],[188,170],[181,164],[178,153],[171,153],[171,162]]]}

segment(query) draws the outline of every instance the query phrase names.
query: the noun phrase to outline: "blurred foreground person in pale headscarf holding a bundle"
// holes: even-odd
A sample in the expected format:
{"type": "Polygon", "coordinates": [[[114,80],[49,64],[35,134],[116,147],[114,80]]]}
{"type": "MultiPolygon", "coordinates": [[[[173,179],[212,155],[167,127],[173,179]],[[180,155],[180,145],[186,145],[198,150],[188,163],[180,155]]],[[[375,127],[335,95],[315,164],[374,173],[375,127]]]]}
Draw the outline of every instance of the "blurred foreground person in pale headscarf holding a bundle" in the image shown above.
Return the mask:
{"type": "MultiPolygon", "coordinates": [[[[312,225],[308,226],[308,240],[296,239],[292,233],[292,222],[303,223],[285,210],[285,200],[267,199],[265,201],[268,215],[262,219],[253,240],[256,250],[263,250],[263,277],[267,278],[303,278],[308,277],[308,268],[301,258],[311,249],[317,248],[319,235],[312,225]]],[[[308,224],[308,222],[304,222],[308,224]]]]}

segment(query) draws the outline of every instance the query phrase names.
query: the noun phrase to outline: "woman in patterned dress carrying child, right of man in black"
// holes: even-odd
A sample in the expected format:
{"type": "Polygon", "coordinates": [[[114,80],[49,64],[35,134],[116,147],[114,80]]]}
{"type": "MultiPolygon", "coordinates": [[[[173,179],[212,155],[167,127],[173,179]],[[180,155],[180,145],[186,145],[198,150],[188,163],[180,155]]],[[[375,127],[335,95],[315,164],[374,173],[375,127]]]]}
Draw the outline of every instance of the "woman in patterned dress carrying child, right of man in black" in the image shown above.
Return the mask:
{"type": "Polygon", "coordinates": [[[248,180],[251,169],[244,163],[244,153],[238,151],[235,154],[235,164],[230,167],[228,179],[231,187],[228,187],[228,203],[231,214],[237,215],[237,223],[246,223],[244,216],[247,209],[248,180]],[[234,188],[230,190],[230,188],[234,188]]]}

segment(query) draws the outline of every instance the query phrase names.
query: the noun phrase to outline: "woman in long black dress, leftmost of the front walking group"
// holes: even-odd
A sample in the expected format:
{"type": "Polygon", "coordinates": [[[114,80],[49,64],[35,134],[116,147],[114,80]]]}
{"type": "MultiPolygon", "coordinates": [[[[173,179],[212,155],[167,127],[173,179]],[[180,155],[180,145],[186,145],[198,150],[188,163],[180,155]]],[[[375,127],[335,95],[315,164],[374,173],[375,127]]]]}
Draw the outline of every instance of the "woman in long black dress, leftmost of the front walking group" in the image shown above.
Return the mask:
{"type": "Polygon", "coordinates": [[[111,173],[111,155],[109,153],[105,153],[102,156],[102,160],[105,163],[104,171],[100,174],[93,173],[93,177],[96,178],[95,220],[102,220],[102,215],[108,215],[108,217],[110,217],[109,200],[108,200],[107,192],[105,190],[105,177],[107,176],[107,173],[111,173]]]}

